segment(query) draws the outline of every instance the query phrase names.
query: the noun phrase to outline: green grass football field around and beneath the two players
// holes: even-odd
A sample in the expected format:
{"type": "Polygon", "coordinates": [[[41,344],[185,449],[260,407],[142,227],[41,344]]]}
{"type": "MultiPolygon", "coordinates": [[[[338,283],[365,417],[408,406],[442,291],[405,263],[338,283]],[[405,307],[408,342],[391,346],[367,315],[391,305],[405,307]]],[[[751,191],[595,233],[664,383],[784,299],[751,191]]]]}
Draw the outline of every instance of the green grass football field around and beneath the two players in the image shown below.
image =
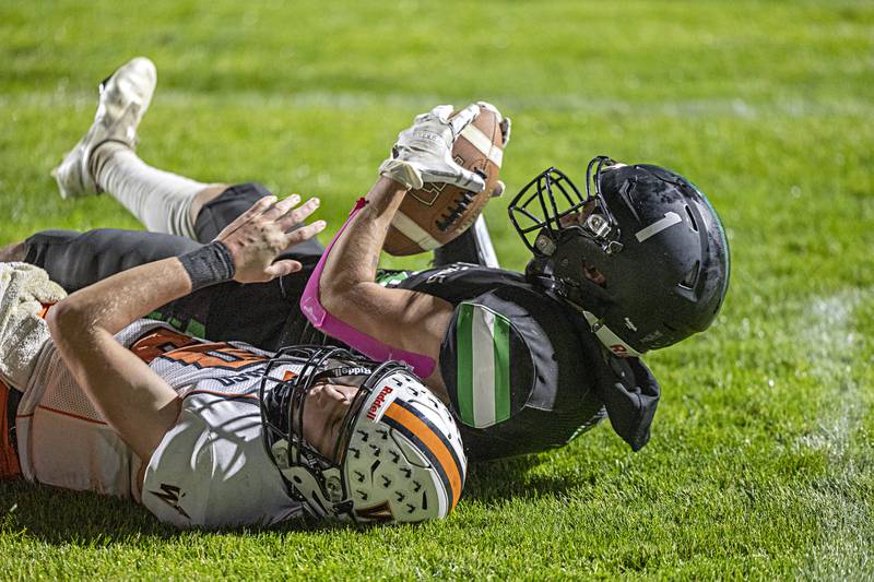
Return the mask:
{"type": "MultiPolygon", "coordinates": [[[[474,466],[458,510],[416,527],[178,533],[0,484],[0,579],[874,578],[874,4],[128,4],[0,2],[0,244],[138,227],[48,173],[96,83],[143,54],[141,156],[318,194],[324,240],[415,114],[485,98],[513,118],[510,191],[548,165],[581,182],[601,153],[692,177],[732,284],[708,333],[647,357],[663,399],[639,453],[604,424],[474,466]]],[[[506,199],[486,216],[521,269],[506,199]]]]}

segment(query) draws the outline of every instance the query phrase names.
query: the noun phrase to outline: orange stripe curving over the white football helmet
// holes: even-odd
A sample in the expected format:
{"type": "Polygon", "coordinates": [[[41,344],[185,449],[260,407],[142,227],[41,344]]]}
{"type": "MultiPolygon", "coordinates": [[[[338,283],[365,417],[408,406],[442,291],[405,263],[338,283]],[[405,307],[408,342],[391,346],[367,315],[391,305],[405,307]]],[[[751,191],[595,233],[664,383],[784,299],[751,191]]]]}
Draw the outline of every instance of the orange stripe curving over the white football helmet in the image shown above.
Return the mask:
{"type": "MultiPolygon", "coordinates": [[[[414,441],[418,440],[424,446],[426,452],[430,452],[430,461],[435,468],[444,477],[444,486],[449,490],[450,506],[454,509],[461,498],[461,489],[464,478],[458,456],[452,450],[451,444],[440,432],[434,429],[427,419],[408,409],[397,402],[392,402],[382,416],[389,425],[399,428],[401,432],[414,441]]],[[[417,443],[418,444],[418,443],[417,443]]]]}

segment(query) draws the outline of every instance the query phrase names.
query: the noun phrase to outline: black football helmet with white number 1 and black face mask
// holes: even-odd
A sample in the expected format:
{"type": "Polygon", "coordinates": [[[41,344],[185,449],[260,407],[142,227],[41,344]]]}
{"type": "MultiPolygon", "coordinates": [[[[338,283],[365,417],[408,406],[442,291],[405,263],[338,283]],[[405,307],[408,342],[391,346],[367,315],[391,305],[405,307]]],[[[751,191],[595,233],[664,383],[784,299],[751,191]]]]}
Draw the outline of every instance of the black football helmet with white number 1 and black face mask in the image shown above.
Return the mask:
{"type": "Polygon", "coordinates": [[[683,176],[598,156],[586,195],[556,168],[512,199],[534,258],[530,280],[578,308],[618,356],[706,330],[729,286],[729,244],[707,197],[683,176]]]}

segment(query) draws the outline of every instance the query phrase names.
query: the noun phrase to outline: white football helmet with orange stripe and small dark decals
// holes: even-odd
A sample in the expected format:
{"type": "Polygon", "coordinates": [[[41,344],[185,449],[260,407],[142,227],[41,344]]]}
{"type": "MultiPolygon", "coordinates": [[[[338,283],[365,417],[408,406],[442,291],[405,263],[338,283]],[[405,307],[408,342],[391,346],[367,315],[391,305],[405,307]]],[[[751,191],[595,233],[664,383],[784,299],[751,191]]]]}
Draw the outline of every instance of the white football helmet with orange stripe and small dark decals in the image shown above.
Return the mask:
{"type": "Polygon", "coordinates": [[[402,364],[333,347],[287,348],[271,360],[260,401],[268,454],[315,516],[420,522],[446,516],[461,497],[466,458],[454,418],[402,364]],[[270,378],[275,366],[302,363],[294,378],[270,378]],[[303,430],[306,393],[326,379],[358,385],[332,459],[303,430]]]}

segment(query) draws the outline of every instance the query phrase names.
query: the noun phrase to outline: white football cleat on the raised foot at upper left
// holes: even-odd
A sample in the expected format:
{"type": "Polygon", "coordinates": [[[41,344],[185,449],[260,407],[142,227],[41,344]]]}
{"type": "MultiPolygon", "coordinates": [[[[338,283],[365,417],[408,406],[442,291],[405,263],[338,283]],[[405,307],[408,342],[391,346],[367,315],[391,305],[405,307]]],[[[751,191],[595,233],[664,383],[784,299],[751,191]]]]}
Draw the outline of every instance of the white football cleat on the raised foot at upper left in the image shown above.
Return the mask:
{"type": "Polygon", "coordinates": [[[102,190],[94,181],[91,154],[106,142],[137,147],[137,127],[143,118],[157,83],[155,64],[145,57],[122,64],[99,85],[97,114],[85,136],[51,170],[61,198],[85,197],[102,190]]]}

